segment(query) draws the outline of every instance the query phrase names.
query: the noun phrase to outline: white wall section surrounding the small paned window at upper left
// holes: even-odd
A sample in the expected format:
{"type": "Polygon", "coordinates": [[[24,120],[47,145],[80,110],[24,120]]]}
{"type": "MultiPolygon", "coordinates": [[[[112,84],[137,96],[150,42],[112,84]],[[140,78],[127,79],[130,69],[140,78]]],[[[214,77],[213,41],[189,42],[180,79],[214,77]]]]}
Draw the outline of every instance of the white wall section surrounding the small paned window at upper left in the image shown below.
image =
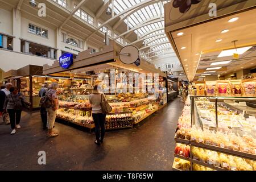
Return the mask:
{"type": "Polygon", "coordinates": [[[43,26],[42,24],[32,22],[26,18],[21,18],[21,38],[30,40],[38,44],[43,44],[44,46],[55,47],[55,30],[43,26]],[[34,24],[40,28],[44,28],[48,31],[48,38],[43,38],[42,36],[31,34],[28,32],[28,23],[34,24]]]}

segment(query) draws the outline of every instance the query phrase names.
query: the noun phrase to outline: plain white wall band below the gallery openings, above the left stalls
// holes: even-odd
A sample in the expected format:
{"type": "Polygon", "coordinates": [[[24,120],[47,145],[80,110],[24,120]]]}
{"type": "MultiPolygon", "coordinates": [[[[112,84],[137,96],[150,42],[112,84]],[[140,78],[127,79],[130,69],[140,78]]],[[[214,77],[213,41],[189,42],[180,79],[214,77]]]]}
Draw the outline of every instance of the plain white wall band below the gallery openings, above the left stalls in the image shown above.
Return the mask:
{"type": "Polygon", "coordinates": [[[53,64],[54,60],[45,57],[27,55],[25,53],[7,51],[0,49],[0,69],[7,72],[11,69],[19,69],[25,67],[28,64],[43,66],[44,64],[53,64]],[[3,62],[7,64],[2,64],[3,62]]]}

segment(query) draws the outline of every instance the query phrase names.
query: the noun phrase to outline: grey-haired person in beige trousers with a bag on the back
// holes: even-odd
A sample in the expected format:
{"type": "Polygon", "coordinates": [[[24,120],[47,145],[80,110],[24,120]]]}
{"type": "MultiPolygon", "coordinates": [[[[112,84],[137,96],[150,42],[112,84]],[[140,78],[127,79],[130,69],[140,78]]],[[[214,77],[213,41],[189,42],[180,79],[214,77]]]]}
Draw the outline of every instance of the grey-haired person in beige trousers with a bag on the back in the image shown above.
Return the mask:
{"type": "Polygon", "coordinates": [[[48,129],[47,137],[56,137],[59,135],[57,131],[53,130],[57,109],[59,109],[59,100],[56,93],[57,88],[59,88],[59,85],[57,83],[52,83],[50,89],[46,92],[46,100],[49,101],[47,102],[49,104],[46,105],[48,129]]]}

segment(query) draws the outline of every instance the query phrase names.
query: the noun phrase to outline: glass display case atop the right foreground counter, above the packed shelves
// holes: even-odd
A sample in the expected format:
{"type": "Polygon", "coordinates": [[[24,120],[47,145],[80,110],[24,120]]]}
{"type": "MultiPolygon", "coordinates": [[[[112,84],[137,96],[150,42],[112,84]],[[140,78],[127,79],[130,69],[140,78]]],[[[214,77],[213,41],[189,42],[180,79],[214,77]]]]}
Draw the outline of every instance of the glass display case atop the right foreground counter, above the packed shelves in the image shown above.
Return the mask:
{"type": "Polygon", "coordinates": [[[191,96],[191,124],[240,135],[256,134],[255,97],[191,96]]]}

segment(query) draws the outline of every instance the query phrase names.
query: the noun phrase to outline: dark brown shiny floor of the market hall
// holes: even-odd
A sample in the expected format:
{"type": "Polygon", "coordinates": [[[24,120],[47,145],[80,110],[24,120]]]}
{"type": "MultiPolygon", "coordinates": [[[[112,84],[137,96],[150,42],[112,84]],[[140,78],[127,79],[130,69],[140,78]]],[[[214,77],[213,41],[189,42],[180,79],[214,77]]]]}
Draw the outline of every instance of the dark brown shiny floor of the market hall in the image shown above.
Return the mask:
{"type": "Polygon", "coordinates": [[[176,99],[137,129],[107,132],[101,146],[94,133],[61,123],[59,137],[47,139],[39,112],[23,113],[15,135],[0,125],[0,170],[171,170],[183,106],[176,99]],[[39,151],[46,151],[46,165],[38,164],[39,151]]]}

